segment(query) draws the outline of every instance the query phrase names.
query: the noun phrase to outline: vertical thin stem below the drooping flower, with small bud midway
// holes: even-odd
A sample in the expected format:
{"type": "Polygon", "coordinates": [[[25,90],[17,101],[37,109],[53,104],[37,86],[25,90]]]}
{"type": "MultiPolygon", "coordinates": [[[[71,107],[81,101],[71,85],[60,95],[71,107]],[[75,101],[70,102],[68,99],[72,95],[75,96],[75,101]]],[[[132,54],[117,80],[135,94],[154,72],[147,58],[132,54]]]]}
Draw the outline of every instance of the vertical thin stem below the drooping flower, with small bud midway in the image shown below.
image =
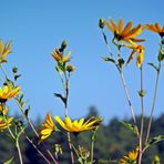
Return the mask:
{"type": "MultiPolygon", "coordinates": [[[[143,69],[141,66],[141,94],[143,92],[143,69]]],[[[144,129],[144,101],[143,101],[143,95],[141,96],[141,109],[142,109],[142,113],[141,113],[141,130],[140,130],[140,153],[139,153],[139,164],[141,164],[142,162],[142,155],[143,155],[143,129],[144,129]]]]}

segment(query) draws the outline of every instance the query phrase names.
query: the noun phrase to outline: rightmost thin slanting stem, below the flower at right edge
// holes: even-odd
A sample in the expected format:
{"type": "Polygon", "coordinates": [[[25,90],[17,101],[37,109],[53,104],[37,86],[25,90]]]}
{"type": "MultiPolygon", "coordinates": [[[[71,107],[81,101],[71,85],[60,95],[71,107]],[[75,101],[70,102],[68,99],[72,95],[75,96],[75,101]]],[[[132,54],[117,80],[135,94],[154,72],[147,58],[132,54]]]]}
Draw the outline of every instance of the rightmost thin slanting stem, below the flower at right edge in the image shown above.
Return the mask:
{"type": "Polygon", "coordinates": [[[151,131],[151,125],[152,125],[152,120],[153,120],[153,112],[154,112],[154,109],[155,109],[155,102],[156,102],[156,96],[157,96],[157,86],[158,86],[160,72],[161,72],[161,63],[160,63],[160,66],[158,66],[158,70],[157,70],[157,75],[156,75],[154,99],[153,99],[153,105],[152,105],[152,110],[151,110],[151,116],[150,116],[150,122],[148,122],[145,143],[148,141],[148,137],[150,137],[150,131],[151,131]]]}

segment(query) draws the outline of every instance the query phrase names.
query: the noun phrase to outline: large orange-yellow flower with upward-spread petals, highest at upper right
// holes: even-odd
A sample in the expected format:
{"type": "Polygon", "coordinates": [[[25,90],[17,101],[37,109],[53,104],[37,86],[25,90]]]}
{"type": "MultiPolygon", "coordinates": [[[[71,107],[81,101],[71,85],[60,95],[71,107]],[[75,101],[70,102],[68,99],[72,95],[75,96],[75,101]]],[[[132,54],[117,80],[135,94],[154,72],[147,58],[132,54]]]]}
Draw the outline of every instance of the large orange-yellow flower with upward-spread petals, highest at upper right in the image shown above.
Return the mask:
{"type": "Polygon", "coordinates": [[[141,34],[142,25],[137,24],[136,27],[132,28],[133,22],[130,21],[124,28],[123,28],[123,20],[120,19],[117,25],[113,21],[113,19],[110,19],[110,22],[104,20],[105,25],[113,32],[114,39],[117,41],[126,41],[129,42],[141,42],[144,41],[143,39],[137,39],[136,37],[141,34]]]}

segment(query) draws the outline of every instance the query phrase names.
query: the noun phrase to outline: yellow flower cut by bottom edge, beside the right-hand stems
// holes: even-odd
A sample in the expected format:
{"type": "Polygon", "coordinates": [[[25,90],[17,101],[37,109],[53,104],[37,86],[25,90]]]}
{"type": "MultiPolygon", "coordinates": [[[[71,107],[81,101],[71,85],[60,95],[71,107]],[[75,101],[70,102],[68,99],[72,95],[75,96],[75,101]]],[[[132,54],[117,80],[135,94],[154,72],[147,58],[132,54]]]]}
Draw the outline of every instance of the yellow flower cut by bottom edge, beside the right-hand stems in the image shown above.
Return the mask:
{"type": "Polygon", "coordinates": [[[136,164],[136,158],[139,155],[139,147],[135,151],[129,153],[127,156],[124,156],[119,161],[119,164],[136,164]]]}

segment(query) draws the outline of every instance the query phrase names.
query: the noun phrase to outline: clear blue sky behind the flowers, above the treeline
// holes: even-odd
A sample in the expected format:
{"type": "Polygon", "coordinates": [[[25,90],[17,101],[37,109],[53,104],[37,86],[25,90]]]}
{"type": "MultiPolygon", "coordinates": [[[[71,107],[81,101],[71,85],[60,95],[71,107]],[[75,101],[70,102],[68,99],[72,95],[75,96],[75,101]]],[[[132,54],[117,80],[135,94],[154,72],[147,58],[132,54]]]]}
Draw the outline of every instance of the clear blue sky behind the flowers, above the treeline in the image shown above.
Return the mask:
{"type": "MultiPolygon", "coordinates": [[[[10,68],[17,65],[22,73],[20,85],[32,106],[30,116],[43,117],[48,111],[63,116],[61,102],[53,98],[61,91],[60,79],[54,71],[50,53],[66,40],[72,51],[72,63],[76,66],[71,79],[69,113],[71,117],[84,116],[89,106],[95,105],[105,121],[113,116],[130,116],[123,86],[116,69],[101,60],[107,55],[106,47],[98,27],[99,19],[109,17],[115,21],[123,18],[134,24],[164,23],[163,0],[2,0],[0,10],[0,38],[12,40],[12,54],[8,57],[10,68]]],[[[110,33],[110,32],[109,32],[110,33]]],[[[112,35],[111,35],[112,37],[112,35]]],[[[155,82],[155,72],[146,65],[154,61],[160,38],[144,32],[145,43],[145,111],[148,115],[155,82]]],[[[140,113],[137,96],[140,71],[135,60],[125,69],[135,113],[140,113]]],[[[157,103],[154,114],[164,110],[162,70],[157,103]]],[[[17,109],[12,109],[17,111],[17,109]]]]}

